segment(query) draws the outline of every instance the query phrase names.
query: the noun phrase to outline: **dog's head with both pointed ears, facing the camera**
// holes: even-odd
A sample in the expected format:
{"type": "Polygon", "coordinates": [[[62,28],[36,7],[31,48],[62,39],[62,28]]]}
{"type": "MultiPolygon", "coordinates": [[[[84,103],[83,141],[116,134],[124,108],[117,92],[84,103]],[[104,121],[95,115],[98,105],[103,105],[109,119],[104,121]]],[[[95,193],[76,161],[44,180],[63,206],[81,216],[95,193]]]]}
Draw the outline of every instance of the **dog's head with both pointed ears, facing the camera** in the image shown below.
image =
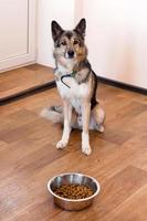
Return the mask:
{"type": "Polygon", "coordinates": [[[86,46],[84,44],[86,21],[82,19],[72,31],[65,31],[56,21],[51,24],[52,36],[54,41],[54,54],[70,60],[82,60],[86,56],[86,46]]]}

